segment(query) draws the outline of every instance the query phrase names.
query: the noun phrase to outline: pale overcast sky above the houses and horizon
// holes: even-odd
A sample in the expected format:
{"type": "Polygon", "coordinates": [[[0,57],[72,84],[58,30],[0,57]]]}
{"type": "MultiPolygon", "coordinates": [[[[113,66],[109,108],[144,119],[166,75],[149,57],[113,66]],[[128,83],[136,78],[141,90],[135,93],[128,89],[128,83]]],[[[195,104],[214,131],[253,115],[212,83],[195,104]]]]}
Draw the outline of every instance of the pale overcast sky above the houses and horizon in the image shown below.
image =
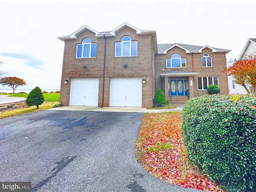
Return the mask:
{"type": "MultiPolygon", "coordinates": [[[[1,1],[0,70],[26,81],[18,89],[60,90],[64,43],[84,25],[111,31],[124,22],[156,30],[158,44],[232,50],[256,38],[254,1],[1,1]]],[[[6,89],[7,86],[0,86],[6,89]]]]}

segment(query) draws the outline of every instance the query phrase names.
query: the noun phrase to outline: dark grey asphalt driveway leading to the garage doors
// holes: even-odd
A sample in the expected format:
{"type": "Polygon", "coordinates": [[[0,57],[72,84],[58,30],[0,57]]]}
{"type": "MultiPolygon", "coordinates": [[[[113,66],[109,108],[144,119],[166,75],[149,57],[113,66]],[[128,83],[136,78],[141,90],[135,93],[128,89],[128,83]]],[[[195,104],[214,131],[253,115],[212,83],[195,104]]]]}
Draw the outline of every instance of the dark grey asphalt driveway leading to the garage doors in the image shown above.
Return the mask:
{"type": "Polygon", "coordinates": [[[143,113],[44,110],[0,120],[0,181],[44,192],[196,192],[136,161],[143,113]]]}

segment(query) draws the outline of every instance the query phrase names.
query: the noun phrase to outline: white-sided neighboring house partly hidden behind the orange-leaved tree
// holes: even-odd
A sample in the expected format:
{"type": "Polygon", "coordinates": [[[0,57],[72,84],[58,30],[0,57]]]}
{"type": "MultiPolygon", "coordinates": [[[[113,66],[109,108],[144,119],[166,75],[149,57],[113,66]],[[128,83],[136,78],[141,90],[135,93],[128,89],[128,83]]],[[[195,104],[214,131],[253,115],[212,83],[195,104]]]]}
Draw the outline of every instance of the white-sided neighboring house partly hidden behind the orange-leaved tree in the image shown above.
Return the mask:
{"type": "MultiPolygon", "coordinates": [[[[248,39],[238,60],[244,59],[244,57],[254,54],[256,54],[256,39],[248,39]]],[[[234,80],[234,77],[228,76],[229,94],[248,94],[245,88],[242,85],[236,84],[234,80]]],[[[253,92],[251,85],[248,84],[246,85],[246,87],[249,89],[251,93],[253,92]]]]}

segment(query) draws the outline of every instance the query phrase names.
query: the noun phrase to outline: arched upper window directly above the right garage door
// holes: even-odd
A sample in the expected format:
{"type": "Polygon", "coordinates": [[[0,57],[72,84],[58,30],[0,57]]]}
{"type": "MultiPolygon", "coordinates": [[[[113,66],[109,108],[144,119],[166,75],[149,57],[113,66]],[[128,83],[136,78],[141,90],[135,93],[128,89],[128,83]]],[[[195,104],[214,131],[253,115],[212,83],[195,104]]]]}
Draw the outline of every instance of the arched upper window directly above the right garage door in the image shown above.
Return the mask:
{"type": "Polygon", "coordinates": [[[137,41],[124,36],[121,42],[116,42],[116,57],[137,56],[137,41]]]}

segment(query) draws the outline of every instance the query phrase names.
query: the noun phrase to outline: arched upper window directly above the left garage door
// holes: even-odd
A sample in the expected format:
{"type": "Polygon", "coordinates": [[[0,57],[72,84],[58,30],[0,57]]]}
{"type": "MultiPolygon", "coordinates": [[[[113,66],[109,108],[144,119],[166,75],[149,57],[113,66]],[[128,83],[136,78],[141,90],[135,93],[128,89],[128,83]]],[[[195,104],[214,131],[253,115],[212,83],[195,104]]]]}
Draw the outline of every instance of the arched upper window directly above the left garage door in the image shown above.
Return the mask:
{"type": "Polygon", "coordinates": [[[76,58],[96,57],[96,43],[89,38],[83,40],[82,44],[76,46],[76,58]]]}

